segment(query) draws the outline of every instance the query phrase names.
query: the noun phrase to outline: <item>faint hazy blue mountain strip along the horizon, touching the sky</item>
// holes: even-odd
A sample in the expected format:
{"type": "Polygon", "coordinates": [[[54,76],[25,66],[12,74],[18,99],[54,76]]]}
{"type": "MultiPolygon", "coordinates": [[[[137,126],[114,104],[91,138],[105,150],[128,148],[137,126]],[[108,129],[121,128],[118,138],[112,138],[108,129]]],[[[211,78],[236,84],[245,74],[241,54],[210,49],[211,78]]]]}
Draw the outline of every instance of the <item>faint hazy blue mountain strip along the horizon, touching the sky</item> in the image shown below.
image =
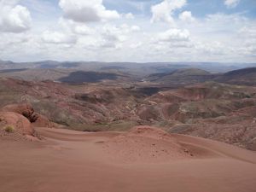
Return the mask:
{"type": "Polygon", "coordinates": [[[221,62],[97,62],[97,61],[35,61],[13,62],[0,60],[0,70],[20,68],[73,68],[90,71],[118,70],[137,74],[168,73],[174,69],[199,68],[211,73],[226,73],[245,67],[256,67],[256,63],[221,62]]]}

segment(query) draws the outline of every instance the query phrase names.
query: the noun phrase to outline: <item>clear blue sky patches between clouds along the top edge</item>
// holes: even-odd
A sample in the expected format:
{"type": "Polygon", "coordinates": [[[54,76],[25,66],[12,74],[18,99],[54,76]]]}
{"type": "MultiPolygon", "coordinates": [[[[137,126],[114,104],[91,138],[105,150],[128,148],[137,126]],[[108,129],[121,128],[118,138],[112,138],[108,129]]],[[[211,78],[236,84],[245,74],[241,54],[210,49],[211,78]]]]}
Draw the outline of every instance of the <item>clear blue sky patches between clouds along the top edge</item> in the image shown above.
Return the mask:
{"type": "MultiPolygon", "coordinates": [[[[40,2],[40,1],[38,1],[40,2]]],[[[41,1],[42,4],[49,4],[52,6],[52,11],[55,13],[51,13],[54,16],[61,15],[61,9],[59,7],[58,0],[44,0],[41,1]],[[43,3],[44,2],[44,3],[43,3]]],[[[154,4],[160,3],[161,0],[105,0],[103,1],[104,6],[107,9],[115,9],[120,13],[132,13],[134,15],[143,15],[144,17],[151,17],[152,13],[150,7],[154,4]],[[140,9],[139,7],[143,8],[140,9]]],[[[20,4],[28,7],[32,10],[32,15],[38,15],[38,10],[35,9],[35,6],[31,3],[31,1],[20,1],[20,4]]],[[[249,18],[256,17],[256,1],[253,0],[243,0],[240,2],[235,8],[227,9],[224,5],[224,0],[213,0],[213,1],[205,1],[205,0],[190,0],[187,1],[186,6],[184,6],[182,10],[189,9],[196,17],[203,18],[209,14],[215,13],[225,13],[225,14],[236,14],[243,13],[249,18]]],[[[43,10],[42,10],[43,11],[43,10]]],[[[176,11],[175,15],[178,15],[176,11]]],[[[44,10],[45,14],[49,14],[49,9],[44,10]]]]}

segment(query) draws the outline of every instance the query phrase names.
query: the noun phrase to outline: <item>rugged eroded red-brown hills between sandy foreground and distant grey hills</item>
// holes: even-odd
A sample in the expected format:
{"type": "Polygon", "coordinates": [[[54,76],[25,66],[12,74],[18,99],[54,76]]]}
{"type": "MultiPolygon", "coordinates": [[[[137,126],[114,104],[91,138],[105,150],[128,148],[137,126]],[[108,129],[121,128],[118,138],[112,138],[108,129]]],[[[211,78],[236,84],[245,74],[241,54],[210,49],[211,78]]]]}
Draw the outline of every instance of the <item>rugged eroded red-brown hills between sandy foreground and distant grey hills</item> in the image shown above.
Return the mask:
{"type": "Polygon", "coordinates": [[[143,84],[5,78],[0,79],[0,108],[26,102],[68,129],[125,131],[133,125],[155,125],[256,150],[255,87],[209,82],[161,90],[143,84]]]}

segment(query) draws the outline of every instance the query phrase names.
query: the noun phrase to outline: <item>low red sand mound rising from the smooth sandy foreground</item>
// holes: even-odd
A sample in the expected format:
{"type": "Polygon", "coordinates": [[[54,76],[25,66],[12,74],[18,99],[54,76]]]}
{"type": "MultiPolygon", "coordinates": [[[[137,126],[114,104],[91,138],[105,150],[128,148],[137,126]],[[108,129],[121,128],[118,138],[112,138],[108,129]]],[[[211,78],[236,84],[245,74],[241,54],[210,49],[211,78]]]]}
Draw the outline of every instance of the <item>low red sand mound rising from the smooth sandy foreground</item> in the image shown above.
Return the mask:
{"type": "Polygon", "coordinates": [[[160,163],[193,156],[176,138],[149,126],[137,126],[127,133],[113,137],[102,148],[111,154],[113,161],[126,163],[160,163]]]}

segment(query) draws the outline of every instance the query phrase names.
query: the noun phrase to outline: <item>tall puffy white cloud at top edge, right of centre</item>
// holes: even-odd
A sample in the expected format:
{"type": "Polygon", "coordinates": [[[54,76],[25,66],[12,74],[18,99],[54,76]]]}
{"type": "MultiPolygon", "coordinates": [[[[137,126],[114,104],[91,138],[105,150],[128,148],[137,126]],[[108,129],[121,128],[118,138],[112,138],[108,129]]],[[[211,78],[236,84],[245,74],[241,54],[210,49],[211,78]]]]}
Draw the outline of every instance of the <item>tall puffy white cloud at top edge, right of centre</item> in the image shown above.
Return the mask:
{"type": "Polygon", "coordinates": [[[151,7],[152,11],[152,22],[164,21],[168,23],[173,23],[172,18],[173,12],[176,9],[181,9],[187,3],[186,0],[164,0],[163,2],[153,5],[151,7]]]}

